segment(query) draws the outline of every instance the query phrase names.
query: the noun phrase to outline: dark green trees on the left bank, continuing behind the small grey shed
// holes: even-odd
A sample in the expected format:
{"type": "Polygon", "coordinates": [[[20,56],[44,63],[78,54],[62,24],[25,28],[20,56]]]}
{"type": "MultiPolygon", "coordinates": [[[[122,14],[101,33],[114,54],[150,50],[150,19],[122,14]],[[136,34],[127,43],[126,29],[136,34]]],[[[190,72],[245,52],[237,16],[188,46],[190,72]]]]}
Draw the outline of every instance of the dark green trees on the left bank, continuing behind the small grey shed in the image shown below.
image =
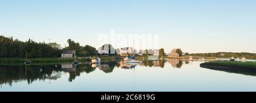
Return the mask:
{"type": "Polygon", "coordinates": [[[0,58],[57,58],[63,50],[76,50],[78,57],[88,57],[97,55],[96,48],[90,45],[80,46],[78,42],[68,39],[68,47],[61,49],[61,45],[56,42],[46,44],[45,42],[35,42],[31,39],[20,41],[13,37],[0,36],[0,58]]]}

